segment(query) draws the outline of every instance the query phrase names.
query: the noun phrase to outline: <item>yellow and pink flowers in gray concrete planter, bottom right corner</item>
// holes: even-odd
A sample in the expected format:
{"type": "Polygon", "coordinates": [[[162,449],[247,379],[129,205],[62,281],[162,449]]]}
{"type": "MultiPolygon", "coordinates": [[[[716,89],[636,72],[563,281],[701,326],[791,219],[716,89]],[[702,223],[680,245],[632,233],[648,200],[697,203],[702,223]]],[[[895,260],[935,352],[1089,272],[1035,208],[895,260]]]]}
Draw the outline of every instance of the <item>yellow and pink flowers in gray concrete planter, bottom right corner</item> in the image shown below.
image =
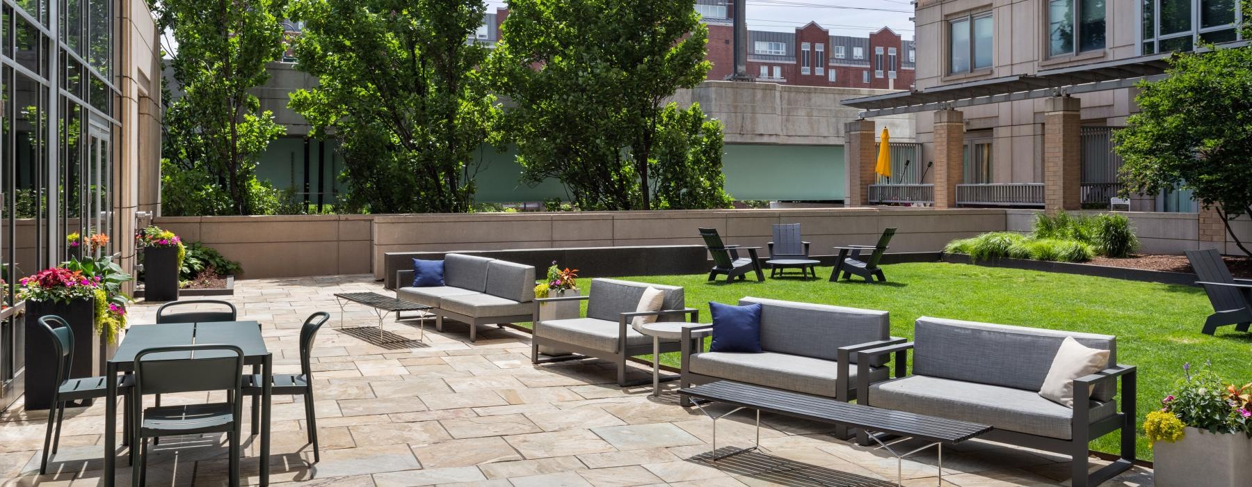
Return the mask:
{"type": "Polygon", "coordinates": [[[1224,383],[1203,369],[1191,373],[1148,413],[1143,429],[1153,448],[1153,479],[1158,486],[1244,486],[1252,464],[1252,383],[1224,383]]]}

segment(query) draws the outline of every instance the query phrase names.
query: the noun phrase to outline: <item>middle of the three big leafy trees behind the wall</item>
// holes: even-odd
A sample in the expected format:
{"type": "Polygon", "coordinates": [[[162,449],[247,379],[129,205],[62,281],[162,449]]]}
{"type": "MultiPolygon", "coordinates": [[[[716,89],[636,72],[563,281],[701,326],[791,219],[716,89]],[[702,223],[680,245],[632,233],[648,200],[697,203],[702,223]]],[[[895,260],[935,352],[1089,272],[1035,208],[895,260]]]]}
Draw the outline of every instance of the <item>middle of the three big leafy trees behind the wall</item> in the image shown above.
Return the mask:
{"type": "Polygon", "coordinates": [[[297,68],[319,86],[292,94],[313,135],[342,141],[346,208],[467,212],[476,153],[500,108],[467,43],[482,0],[295,0],[297,68]]]}

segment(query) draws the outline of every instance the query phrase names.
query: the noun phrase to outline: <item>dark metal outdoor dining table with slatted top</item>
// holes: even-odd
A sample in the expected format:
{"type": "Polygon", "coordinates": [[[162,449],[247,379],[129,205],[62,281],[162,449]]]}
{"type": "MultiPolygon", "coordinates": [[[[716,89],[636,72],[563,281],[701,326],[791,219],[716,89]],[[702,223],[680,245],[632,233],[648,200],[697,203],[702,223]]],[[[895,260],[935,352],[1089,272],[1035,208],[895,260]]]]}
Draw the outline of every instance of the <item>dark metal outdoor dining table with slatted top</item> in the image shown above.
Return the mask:
{"type": "MultiPolygon", "coordinates": [[[[119,372],[134,372],[135,356],[153,347],[172,347],[189,344],[229,344],[239,347],[244,354],[245,366],[262,366],[262,377],[272,377],[273,354],[265,348],[258,322],[215,322],[215,323],[163,323],[139,324],[126,329],[126,336],[118,346],[118,352],[106,363],[105,377],[116,377],[119,372]]],[[[190,354],[185,352],[172,352],[190,354]]],[[[163,358],[168,358],[163,354],[163,358]]],[[[118,461],[118,381],[108,381],[108,398],[104,413],[104,484],[114,484],[115,463],[118,461]]],[[[260,484],[269,484],[269,406],[273,386],[264,381],[265,387],[260,399],[260,484]]],[[[242,398],[237,398],[242,401],[242,398]]],[[[242,419],[242,418],[240,418],[242,419]]],[[[134,448],[134,446],[131,446],[134,448]]]]}

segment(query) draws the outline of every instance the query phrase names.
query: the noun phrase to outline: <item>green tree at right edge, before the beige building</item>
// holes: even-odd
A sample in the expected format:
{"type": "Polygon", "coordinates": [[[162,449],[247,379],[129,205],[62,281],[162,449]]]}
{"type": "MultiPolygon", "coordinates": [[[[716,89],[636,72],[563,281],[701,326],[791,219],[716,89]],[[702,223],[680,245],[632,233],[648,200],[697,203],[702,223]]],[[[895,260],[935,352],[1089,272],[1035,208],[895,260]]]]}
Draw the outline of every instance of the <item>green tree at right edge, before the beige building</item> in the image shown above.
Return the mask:
{"type": "Polygon", "coordinates": [[[1141,111],[1116,135],[1123,193],[1191,189],[1231,232],[1229,220],[1252,214],[1252,48],[1176,54],[1169,63],[1169,78],[1141,84],[1141,111]]]}

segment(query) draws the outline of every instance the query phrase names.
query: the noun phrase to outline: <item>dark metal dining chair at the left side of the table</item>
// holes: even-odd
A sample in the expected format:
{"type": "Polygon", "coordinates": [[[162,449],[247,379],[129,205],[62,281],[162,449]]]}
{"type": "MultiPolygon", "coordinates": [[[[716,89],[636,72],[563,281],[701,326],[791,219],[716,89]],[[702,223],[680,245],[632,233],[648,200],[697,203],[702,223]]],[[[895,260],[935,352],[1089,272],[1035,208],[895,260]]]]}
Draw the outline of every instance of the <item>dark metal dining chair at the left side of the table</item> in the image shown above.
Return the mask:
{"type": "MultiPolygon", "coordinates": [[[[108,394],[108,383],[105,382],[105,377],[69,378],[70,366],[73,366],[74,361],[74,333],[65,319],[58,315],[40,317],[39,329],[48,333],[48,338],[53,343],[53,354],[61,357],[56,362],[56,372],[53,374],[56,382],[53,386],[51,407],[48,409],[48,431],[44,433],[44,451],[39,459],[39,473],[44,474],[48,473],[48,458],[56,453],[56,447],[61,442],[61,421],[65,419],[65,403],[103,398],[108,394]]],[[[129,433],[131,428],[130,401],[134,381],[131,376],[123,376],[116,381],[118,391],[123,394],[125,404],[121,423],[125,424],[125,431],[129,433]]]]}

